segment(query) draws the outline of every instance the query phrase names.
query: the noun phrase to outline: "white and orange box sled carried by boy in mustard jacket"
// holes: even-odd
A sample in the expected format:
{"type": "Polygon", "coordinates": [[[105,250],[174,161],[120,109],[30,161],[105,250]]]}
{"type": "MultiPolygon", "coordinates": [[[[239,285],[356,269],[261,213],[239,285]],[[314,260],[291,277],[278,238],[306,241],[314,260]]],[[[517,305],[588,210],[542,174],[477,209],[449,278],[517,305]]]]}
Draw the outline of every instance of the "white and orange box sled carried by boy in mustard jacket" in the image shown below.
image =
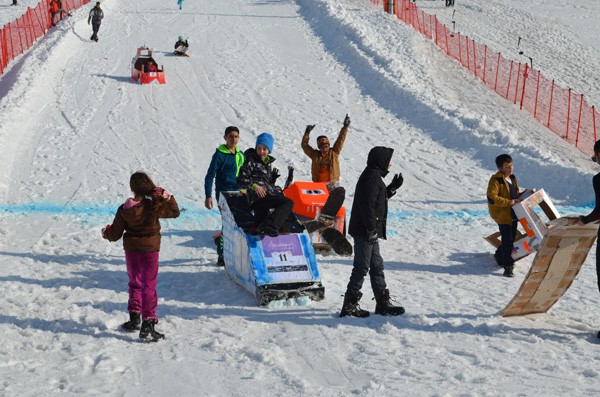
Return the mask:
{"type": "MultiPolygon", "coordinates": [[[[539,206],[548,220],[553,221],[560,218],[560,214],[552,204],[550,197],[544,189],[537,192],[526,193],[521,196],[521,201],[513,205],[513,211],[519,219],[525,233],[517,231],[517,237],[513,244],[512,258],[517,261],[538,250],[544,236],[548,233],[548,225],[535,212],[534,208],[539,206]]],[[[492,233],[484,239],[495,248],[500,246],[500,232],[492,233]]]]}

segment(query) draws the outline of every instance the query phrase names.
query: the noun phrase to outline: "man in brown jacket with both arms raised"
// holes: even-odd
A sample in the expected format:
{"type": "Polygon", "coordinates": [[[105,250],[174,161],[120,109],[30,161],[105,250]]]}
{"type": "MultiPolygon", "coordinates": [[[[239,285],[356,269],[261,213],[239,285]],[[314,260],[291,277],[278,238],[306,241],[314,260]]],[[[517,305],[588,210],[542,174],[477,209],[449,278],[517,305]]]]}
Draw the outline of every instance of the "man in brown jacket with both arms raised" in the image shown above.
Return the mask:
{"type": "Polygon", "coordinates": [[[324,182],[327,185],[327,190],[329,190],[329,198],[321,209],[319,218],[315,222],[309,222],[305,225],[309,233],[330,227],[335,220],[336,214],[344,204],[346,190],[339,185],[339,155],[344,146],[349,126],[350,117],[346,115],[340,134],[335,140],[333,147],[330,146],[329,138],[327,136],[320,135],[317,137],[318,149],[313,148],[308,143],[310,132],[315,128],[314,124],[307,125],[306,130],[304,130],[301,146],[304,153],[306,153],[312,161],[312,180],[313,182],[324,182]]]}

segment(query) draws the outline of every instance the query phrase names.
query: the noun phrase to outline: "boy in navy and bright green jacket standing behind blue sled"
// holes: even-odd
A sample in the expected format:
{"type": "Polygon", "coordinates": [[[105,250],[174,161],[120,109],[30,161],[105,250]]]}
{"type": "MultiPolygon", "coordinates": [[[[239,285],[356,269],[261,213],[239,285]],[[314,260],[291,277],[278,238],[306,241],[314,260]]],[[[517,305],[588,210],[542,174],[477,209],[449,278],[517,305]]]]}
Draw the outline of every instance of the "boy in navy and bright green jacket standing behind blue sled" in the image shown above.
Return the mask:
{"type": "MultiPolygon", "coordinates": [[[[240,168],[244,164],[244,154],[237,147],[240,140],[240,130],[231,125],[225,128],[225,144],[219,146],[210,160],[206,177],[204,177],[204,206],[212,209],[215,202],[212,199],[212,185],[215,182],[216,202],[219,201],[221,192],[238,191],[240,187],[237,184],[237,176],[240,168]]],[[[223,259],[223,233],[217,233],[213,236],[217,245],[217,264],[225,266],[223,259]]]]}

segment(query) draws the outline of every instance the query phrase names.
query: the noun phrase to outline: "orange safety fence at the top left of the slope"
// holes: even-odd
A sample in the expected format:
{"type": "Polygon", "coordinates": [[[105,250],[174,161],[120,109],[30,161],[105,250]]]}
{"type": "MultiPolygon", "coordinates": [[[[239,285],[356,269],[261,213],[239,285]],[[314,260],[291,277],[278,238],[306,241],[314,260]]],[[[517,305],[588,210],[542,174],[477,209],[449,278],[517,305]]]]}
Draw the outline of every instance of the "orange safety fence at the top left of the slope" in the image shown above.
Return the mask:
{"type": "MultiPolygon", "coordinates": [[[[89,3],[90,0],[63,0],[63,10],[69,12],[89,3]]],[[[58,16],[57,16],[58,18],[58,16]]],[[[8,64],[31,48],[33,43],[52,27],[50,1],[41,0],[35,8],[27,8],[25,14],[0,29],[0,75],[8,64]]]]}

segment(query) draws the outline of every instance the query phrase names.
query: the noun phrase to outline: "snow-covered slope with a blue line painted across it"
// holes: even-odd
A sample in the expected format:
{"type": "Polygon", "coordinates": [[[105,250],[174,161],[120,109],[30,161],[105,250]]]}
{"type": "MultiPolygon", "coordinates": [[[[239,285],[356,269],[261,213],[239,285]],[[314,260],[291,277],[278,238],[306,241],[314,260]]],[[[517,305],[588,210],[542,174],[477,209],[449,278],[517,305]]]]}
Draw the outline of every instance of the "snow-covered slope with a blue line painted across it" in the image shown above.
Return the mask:
{"type": "MultiPolygon", "coordinates": [[[[417,3],[452,18],[443,1],[417,3]]],[[[520,184],[544,188],[563,215],[593,204],[588,155],[367,0],[188,0],[181,11],[106,0],[98,43],[91,6],[0,78],[3,395],[598,394],[594,250],[547,314],[503,318],[533,258],[502,277],[482,239],[496,230],[485,188],[498,154],[511,153],[520,184]],[[190,58],[171,56],[178,35],[190,58]],[[130,79],[141,44],[167,85],[130,79]],[[324,301],[258,307],[215,264],[220,218],[203,206],[210,156],[228,125],[244,149],[269,131],[279,168],[308,180],[304,127],[334,138],[346,113],[346,206],[373,146],[394,148],[392,172],[405,177],[381,247],[407,312],[340,319],[352,259],[322,255],[324,301]],[[157,344],[118,331],[124,255],[100,238],[139,169],[186,209],[162,222],[167,340],[157,344]]],[[[13,10],[0,8],[0,23],[13,10]]],[[[543,73],[598,105],[599,11],[593,0],[457,0],[454,18],[507,56],[523,37],[543,73]]],[[[373,311],[368,281],[363,293],[373,311]]]]}

